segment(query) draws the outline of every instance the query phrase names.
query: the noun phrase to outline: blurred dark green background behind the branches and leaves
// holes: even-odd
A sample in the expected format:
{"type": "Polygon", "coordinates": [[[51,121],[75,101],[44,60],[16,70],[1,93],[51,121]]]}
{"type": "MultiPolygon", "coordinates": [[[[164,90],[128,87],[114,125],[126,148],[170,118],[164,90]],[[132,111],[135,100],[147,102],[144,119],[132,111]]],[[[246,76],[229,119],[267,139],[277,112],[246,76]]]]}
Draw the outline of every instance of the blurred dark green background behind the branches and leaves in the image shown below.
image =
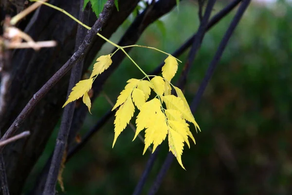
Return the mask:
{"type": "MultiPolygon", "coordinates": [[[[225,1],[224,1],[225,2],[225,1]]],[[[226,3],[226,2],[225,2],[226,3]]],[[[213,15],[225,5],[217,2],[213,15]]],[[[198,28],[197,4],[180,3],[164,16],[161,24],[152,24],[138,44],[172,53],[198,28]],[[195,18],[195,20],[194,20],[195,18]],[[164,30],[163,30],[164,29],[164,30]]],[[[233,11],[211,31],[201,46],[187,80],[188,102],[196,94],[213,58],[233,11]]],[[[114,34],[117,42],[133,17],[114,34]]],[[[161,22],[160,22],[161,23],[161,22]]],[[[98,55],[110,53],[104,45],[98,55]]],[[[179,59],[185,62],[188,51],[179,59]]],[[[153,50],[134,48],[130,56],[150,72],[165,56],[153,50]]],[[[292,194],[292,7],[285,1],[269,6],[252,2],[218,64],[197,113],[201,133],[191,131],[197,145],[183,150],[184,171],[175,160],[158,192],[159,195],[289,195],[292,194]]],[[[173,80],[176,83],[183,63],[173,80]]],[[[129,78],[143,78],[128,60],[108,79],[104,93],[115,101],[129,78]]],[[[99,97],[83,126],[84,135],[107,110],[104,96],[99,97]]],[[[127,127],[112,149],[113,119],[95,134],[89,143],[66,164],[63,180],[67,195],[130,195],[133,193],[146,161],[144,144],[127,127]]],[[[56,127],[48,146],[28,178],[28,191],[48,156],[54,149],[56,127]]],[[[146,194],[167,155],[162,149],[150,173],[146,194]]]]}

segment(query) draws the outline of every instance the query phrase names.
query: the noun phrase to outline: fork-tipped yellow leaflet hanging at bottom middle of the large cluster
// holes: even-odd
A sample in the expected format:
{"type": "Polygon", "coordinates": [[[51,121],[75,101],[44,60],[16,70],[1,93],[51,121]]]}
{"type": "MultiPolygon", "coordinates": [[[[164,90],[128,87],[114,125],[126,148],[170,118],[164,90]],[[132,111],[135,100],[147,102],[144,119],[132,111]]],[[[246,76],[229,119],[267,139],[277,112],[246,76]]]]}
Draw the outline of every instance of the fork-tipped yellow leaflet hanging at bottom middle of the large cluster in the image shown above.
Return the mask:
{"type": "Polygon", "coordinates": [[[153,143],[153,153],[157,146],[165,139],[168,132],[165,116],[161,110],[151,119],[153,120],[152,125],[145,130],[145,148],[143,155],[151,143],[153,143]]]}

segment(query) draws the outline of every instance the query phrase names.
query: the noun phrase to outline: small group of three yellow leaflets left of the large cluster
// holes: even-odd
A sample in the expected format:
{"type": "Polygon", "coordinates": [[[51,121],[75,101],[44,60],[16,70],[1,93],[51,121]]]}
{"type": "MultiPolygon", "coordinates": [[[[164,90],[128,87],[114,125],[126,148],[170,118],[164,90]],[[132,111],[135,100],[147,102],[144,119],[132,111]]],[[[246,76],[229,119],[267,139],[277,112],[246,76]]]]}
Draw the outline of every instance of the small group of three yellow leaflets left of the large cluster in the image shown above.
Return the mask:
{"type": "Polygon", "coordinates": [[[91,73],[90,78],[85,79],[85,80],[80,80],[72,88],[72,92],[70,93],[67,101],[64,103],[62,108],[64,108],[68,103],[75,101],[76,99],[79,99],[83,96],[83,103],[85,103],[85,105],[88,107],[88,110],[90,112],[91,100],[88,96],[88,92],[92,87],[92,83],[94,81],[94,78],[96,78],[99,74],[101,74],[105,70],[107,70],[110,67],[111,63],[112,63],[112,61],[110,59],[110,55],[101,56],[98,59],[96,59],[96,63],[93,65],[93,71],[91,73]]]}

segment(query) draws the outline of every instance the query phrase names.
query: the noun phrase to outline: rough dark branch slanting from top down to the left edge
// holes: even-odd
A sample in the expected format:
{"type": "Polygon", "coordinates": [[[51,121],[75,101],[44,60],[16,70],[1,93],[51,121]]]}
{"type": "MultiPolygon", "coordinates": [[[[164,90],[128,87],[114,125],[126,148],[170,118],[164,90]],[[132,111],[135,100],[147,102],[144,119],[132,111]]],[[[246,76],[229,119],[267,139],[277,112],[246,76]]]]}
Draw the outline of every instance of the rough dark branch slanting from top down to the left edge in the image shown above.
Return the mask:
{"type": "MultiPolygon", "coordinates": [[[[79,60],[83,59],[85,54],[88,52],[89,46],[91,44],[91,40],[93,37],[101,30],[103,24],[107,21],[110,16],[112,5],[114,4],[113,0],[107,1],[105,4],[105,8],[103,12],[100,14],[100,17],[94,25],[92,26],[91,30],[88,31],[87,36],[85,37],[84,41],[80,45],[79,49],[73,54],[73,56],[55,73],[55,75],[50,78],[40,90],[31,98],[31,100],[26,104],[23,108],[21,113],[6,131],[4,136],[0,139],[1,141],[12,137],[15,135],[16,131],[20,127],[20,125],[24,122],[24,120],[29,116],[32,110],[37,105],[38,101],[41,100],[53,87],[54,85],[72,68],[73,64],[78,62],[79,60]]],[[[3,150],[3,146],[0,147],[0,152],[3,150]]]]}

